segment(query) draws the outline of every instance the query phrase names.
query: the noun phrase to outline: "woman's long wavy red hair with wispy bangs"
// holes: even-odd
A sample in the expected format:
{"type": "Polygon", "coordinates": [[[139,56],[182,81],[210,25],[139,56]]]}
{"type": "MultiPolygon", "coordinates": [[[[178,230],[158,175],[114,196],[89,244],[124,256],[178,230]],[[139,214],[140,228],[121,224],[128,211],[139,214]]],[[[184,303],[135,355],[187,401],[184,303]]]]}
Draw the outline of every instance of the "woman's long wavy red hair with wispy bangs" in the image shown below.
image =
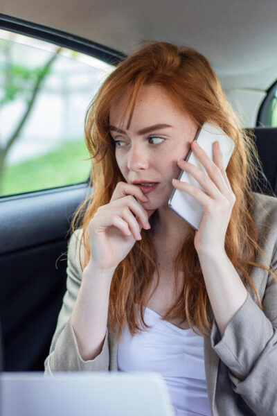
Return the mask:
{"type": "MultiPolygon", "coordinates": [[[[75,211],[71,223],[71,232],[74,232],[77,220],[78,227],[83,229],[81,244],[84,245],[84,264],[81,266],[84,268],[87,265],[90,256],[89,221],[98,207],[109,203],[116,184],[125,182],[116,163],[115,148],[109,133],[111,104],[118,94],[123,94],[126,90],[132,92],[127,106],[131,106],[127,124],[129,129],[140,87],[152,84],[162,86],[172,101],[197,125],[202,125],[205,121],[217,123],[235,143],[226,169],[236,201],[226,231],[225,250],[244,286],[251,286],[262,309],[258,291],[250,276],[251,268],[258,266],[267,270],[276,281],[277,276],[271,270],[270,260],[266,259],[258,245],[258,231],[251,216],[252,184],[258,182],[257,169],[262,171],[258,151],[253,134],[247,134],[242,128],[211,64],[204,55],[188,46],[146,42],[118,64],[89,105],[85,117],[85,141],[91,155],[90,185],[93,188],[91,195],[75,211]],[[255,262],[258,252],[266,259],[269,268],[255,262]]],[[[156,212],[150,218],[151,225],[155,214],[156,212]]],[[[136,241],[127,257],[118,264],[111,281],[108,324],[112,329],[118,325],[117,341],[125,323],[132,335],[148,327],[143,320],[142,305],[148,302],[150,283],[154,271],[158,272],[151,229],[141,229],[142,240],[136,241]],[[135,304],[141,305],[140,315],[136,314],[135,304]]],[[[195,230],[191,228],[175,258],[175,288],[179,270],[184,272],[184,282],[181,294],[176,295],[174,304],[163,315],[163,319],[187,320],[191,329],[197,327],[203,336],[208,337],[212,323],[208,318],[208,307],[211,304],[194,247],[194,236],[195,230]]]]}

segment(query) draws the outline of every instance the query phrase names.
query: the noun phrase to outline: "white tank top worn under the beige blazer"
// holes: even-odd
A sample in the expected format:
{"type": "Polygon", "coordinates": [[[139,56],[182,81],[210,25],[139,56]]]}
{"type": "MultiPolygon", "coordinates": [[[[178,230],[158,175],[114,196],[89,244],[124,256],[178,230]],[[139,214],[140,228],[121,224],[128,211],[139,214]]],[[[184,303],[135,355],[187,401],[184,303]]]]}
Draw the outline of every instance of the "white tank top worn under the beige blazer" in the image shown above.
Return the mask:
{"type": "Polygon", "coordinates": [[[126,325],[123,328],[118,344],[118,371],[157,372],[166,381],[177,416],[211,416],[204,338],[192,329],[181,329],[161,320],[161,315],[148,307],[144,309],[144,320],[152,327],[133,338],[126,325]]]}

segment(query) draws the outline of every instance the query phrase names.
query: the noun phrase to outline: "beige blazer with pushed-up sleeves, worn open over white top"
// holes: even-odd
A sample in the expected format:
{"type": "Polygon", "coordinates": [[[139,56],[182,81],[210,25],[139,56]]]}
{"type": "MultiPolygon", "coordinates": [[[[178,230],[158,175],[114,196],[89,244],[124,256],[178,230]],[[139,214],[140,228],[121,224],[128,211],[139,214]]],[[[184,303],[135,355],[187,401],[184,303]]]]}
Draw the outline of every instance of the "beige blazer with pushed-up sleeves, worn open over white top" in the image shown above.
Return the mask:
{"type": "MultiPolygon", "coordinates": [[[[254,196],[253,219],[259,243],[277,269],[277,198],[260,193],[254,196]]],[[[69,319],[82,278],[80,243],[76,239],[80,239],[81,232],[76,230],[69,242],[66,293],[44,363],[45,374],[118,370],[116,333],[107,327],[100,354],[94,360],[83,361],[69,319]]],[[[269,267],[260,255],[256,261],[269,267]]],[[[213,326],[210,338],[204,338],[204,363],[213,416],[277,416],[277,319],[273,319],[277,315],[277,284],[262,268],[253,267],[251,277],[264,311],[249,287],[247,300],[229,321],[222,338],[212,309],[209,311],[213,326]]]]}

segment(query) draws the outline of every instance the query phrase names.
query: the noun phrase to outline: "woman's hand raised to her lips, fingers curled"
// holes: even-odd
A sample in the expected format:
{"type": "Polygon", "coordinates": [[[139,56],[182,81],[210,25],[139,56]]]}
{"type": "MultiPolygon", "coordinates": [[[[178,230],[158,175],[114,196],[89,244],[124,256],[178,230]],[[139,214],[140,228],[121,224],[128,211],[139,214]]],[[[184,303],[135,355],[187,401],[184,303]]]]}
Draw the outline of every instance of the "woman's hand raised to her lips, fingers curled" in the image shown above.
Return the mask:
{"type": "Polygon", "coordinates": [[[155,209],[145,209],[141,205],[145,202],[148,197],[138,186],[118,182],[109,204],[99,207],[89,223],[89,262],[93,268],[116,269],[140,239],[142,226],[149,229],[148,218],[155,209]]]}

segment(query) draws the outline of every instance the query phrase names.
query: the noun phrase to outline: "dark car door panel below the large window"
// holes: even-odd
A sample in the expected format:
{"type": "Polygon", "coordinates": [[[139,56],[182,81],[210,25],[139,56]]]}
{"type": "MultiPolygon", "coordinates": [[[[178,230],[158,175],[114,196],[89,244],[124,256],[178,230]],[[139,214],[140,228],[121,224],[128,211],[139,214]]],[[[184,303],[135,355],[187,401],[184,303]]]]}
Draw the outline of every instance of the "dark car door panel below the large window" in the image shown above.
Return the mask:
{"type": "Polygon", "coordinates": [[[80,184],[0,200],[3,369],[43,370],[66,290],[66,248],[80,184]]]}

